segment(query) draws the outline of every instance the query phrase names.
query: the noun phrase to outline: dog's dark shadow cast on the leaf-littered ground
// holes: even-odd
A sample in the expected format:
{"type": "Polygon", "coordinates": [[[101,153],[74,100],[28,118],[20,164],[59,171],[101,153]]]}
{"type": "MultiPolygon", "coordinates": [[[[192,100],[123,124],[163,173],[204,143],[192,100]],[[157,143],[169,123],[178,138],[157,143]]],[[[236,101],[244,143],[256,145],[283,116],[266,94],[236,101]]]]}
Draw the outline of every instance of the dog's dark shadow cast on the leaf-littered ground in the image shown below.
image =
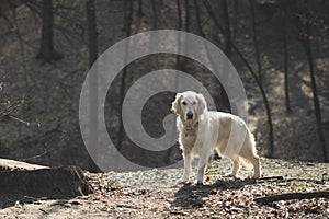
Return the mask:
{"type": "Polygon", "coordinates": [[[254,184],[256,180],[219,180],[211,185],[192,185],[184,184],[174,194],[174,200],[171,201],[171,207],[180,207],[185,209],[202,208],[204,206],[204,198],[216,194],[216,191],[239,189],[245,185],[254,184]]]}

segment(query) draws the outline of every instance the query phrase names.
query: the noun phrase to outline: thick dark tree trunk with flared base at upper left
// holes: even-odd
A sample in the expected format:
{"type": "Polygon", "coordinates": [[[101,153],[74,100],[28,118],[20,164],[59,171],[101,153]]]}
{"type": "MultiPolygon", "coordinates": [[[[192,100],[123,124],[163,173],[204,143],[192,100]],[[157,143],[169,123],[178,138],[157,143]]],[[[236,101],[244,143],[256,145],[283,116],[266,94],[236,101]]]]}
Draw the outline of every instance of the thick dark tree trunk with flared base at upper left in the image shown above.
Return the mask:
{"type": "Polygon", "coordinates": [[[54,16],[53,16],[53,0],[43,0],[43,26],[41,50],[37,58],[43,58],[45,61],[61,58],[61,55],[54,49],[54,16]]]}

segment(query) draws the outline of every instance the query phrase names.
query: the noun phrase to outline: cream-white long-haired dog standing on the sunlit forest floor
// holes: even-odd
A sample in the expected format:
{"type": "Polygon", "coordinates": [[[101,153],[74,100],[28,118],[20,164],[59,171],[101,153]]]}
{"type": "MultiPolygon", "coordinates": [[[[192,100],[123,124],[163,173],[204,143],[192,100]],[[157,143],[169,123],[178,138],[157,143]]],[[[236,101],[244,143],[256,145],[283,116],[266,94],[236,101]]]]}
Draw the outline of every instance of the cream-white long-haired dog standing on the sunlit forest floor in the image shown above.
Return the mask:
{"type": "Polygon", "coordinates": [[[179,142],[184,158],[184,174],[179,183],[189,181],[192,160],[198,157],[197,184],[203,184],[204,170],[214,149],[234,161],[231,176],[237,175],[242,159],[252,163],[253,177],[260,177],[253,135],[241,118],[208,111],[204,96],[193,91],[178,93],[171,110],[178,115],[179,142]]]}

